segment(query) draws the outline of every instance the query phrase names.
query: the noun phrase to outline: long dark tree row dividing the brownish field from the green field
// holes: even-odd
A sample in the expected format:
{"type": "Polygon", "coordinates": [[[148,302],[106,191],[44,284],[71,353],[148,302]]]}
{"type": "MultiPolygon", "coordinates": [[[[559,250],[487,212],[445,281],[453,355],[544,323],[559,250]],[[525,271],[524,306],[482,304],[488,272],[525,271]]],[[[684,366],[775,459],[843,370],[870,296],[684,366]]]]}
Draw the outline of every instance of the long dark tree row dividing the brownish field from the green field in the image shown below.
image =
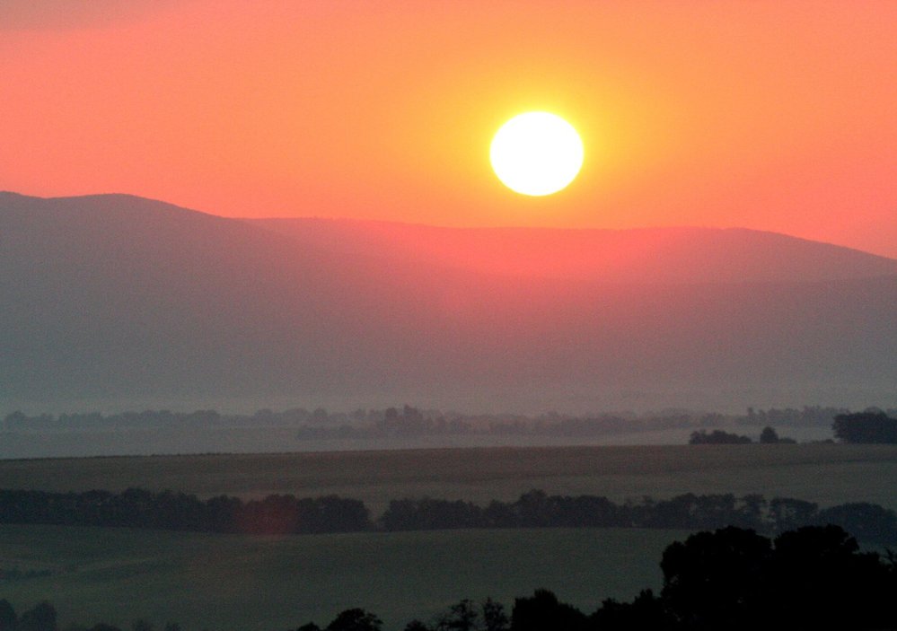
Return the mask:
{"type": "Polygon", "coordinates": [[[0,523],[194,530],[246,534],[313,534],[365,530],[483,528],[655,528],[704,530],[737,526],[782,532],[837,524],[873,543],[897,544],[897,515],[865,502],[820,508],[787,497],[677,495],[615,503],[599,495],[548,495],[533,489],[513,502],[486,505],[431,497],[392,500],[372,519],[367,506],[337,495],[268,495],[243,501],[129,488],[122,493],[0,490],[0,523]]]}

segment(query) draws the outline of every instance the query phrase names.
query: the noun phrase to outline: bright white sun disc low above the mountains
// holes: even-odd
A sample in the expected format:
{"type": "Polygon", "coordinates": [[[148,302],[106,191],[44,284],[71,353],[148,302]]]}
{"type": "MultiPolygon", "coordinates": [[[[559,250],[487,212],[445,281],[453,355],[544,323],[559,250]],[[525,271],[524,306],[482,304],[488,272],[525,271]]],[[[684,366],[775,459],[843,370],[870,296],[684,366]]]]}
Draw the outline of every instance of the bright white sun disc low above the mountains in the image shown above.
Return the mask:
{"type": "Polygon", "coordinates": [[[576,178],[583,166],[583,141],[563,118],[526,112],[497,131],[489,159],[507,188],[523,195],[550,195],[576,178]]]}

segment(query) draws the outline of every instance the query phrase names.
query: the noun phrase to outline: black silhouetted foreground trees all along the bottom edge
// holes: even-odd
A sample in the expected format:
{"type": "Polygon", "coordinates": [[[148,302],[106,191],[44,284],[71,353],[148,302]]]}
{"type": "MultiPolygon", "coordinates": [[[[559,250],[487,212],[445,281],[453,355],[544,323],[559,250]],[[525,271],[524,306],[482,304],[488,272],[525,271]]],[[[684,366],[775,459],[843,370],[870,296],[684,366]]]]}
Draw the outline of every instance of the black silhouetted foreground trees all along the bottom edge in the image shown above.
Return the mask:
{"type": "MultiPolygon", "coordinates": [[[[873,631],[897,629],[897,557],[862,552],[838,526],[807,526],[774,539],[734,526],[701,531],[664,549],[659,593],[629,602],[603,600],[591,613],[545,589],[514,599],[507,613],[496,600],[461,600],[404,631],[873,631]]],[[[0,631],[59,631],[48,602],[16,616],[0,600],[0,631]]],[[[122,631],[100,623],[66,631],[122,631]]],[[[138,620],[132,631],[153,631],[138,620]]],[[[168,623],[165,631],[180,631],[168,623]]],[[[383,631],[383,621],[360,608],[341,611],[326,627],[306,622],[295,631],[383,631]]]]}

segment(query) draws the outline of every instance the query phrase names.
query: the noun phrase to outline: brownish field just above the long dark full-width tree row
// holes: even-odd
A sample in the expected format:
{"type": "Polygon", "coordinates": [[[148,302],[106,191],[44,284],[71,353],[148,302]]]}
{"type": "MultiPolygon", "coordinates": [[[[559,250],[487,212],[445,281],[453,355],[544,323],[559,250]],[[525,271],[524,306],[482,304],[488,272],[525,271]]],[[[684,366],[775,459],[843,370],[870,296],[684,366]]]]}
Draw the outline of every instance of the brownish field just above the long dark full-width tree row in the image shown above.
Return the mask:
{"type": "Polygon", "coordinates": [[[796,444],[344,451],[0,460],[0,487],[48,491],[128,486],[211,495],[338,494],[374,515],[395,498],[486,503],[531,488],[614,501],[682,493],[761,493],[823,506],[897,509],[897,446],[796,444]]]}

